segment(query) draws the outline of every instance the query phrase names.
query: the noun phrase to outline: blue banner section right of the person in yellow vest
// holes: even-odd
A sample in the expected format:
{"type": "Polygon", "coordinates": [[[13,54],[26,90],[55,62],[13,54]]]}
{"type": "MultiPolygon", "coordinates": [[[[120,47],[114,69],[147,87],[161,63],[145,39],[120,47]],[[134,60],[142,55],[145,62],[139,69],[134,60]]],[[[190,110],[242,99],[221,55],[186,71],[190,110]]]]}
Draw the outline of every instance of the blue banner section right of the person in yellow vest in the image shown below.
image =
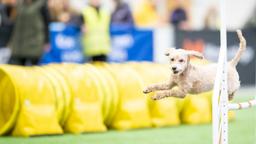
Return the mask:
{"type": "Polygon", "coordinates": [[[108,61],[153,61],[153,31],[128,24],[111,24],[111,52],[108,61]]]}

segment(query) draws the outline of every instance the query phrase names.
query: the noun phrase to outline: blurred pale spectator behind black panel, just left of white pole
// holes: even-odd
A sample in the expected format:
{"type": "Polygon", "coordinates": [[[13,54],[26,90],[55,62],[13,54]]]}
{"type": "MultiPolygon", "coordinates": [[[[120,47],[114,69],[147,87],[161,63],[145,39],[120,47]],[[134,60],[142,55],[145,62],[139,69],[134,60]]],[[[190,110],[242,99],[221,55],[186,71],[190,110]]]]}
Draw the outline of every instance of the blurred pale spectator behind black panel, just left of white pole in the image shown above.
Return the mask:
{"type": "Polygon", "coordinates": [[[209,8],[204,19],[204,28],[211,30],[220,29],[220,18],[217,15],[215,6],[209,8]]]}

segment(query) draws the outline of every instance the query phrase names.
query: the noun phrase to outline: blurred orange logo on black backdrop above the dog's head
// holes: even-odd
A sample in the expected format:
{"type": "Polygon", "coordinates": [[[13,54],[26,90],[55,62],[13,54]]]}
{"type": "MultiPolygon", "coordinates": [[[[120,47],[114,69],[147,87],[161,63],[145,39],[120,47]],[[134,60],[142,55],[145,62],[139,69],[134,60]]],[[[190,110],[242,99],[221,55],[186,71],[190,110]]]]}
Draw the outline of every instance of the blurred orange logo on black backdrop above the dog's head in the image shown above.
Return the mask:
{"type": "MultiPolygon", "coordinates": [[[[203,39],[197,39],[195,42],[191,41],[190,39],[185,39],[183,41],[183,49],[188,51],[197,51],[202,53],[204,47],[204,40],[203,39]]],[[[195,58],[194,56],[191,56],[191,58],[195,58]]]]}

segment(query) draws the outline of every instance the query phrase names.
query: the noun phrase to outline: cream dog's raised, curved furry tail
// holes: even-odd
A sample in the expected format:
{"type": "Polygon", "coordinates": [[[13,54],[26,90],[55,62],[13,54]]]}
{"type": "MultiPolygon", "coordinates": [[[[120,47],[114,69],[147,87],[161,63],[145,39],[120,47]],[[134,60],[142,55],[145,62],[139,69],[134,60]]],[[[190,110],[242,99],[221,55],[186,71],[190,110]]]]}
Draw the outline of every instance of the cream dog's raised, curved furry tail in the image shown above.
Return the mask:
{"type": "Polygon", "coordinates": [[[236,55],[235,55],[234,59],[232,59],[230,61],[231,65],[233,65],[233,66],[237,65],[237,62],[239,61],[241,55],[243,54],[243,52],[244,52],[244,50],[246,48],[246,41],[244,39],[244,36],[242,35],[241,30],[237,29],[236,32],[237,32],[237,35],[238,35],[238,37],[240,39],[240,44],[239,44],[238,52],[236,52],[236,55]]]}

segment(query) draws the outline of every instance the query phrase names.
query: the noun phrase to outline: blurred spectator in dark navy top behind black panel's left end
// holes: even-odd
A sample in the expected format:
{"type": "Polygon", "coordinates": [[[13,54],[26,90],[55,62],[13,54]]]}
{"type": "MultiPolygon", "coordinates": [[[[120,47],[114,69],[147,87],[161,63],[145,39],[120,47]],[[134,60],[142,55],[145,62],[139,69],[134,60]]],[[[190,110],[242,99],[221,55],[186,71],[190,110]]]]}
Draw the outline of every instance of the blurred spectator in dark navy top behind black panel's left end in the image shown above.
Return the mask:
{"type": "Polygon", "coordinates": [[[176,9],[171,13],[170,22],[178,29],[189,30],[187,12],[182,0],[178,0],[176,9]]]}

